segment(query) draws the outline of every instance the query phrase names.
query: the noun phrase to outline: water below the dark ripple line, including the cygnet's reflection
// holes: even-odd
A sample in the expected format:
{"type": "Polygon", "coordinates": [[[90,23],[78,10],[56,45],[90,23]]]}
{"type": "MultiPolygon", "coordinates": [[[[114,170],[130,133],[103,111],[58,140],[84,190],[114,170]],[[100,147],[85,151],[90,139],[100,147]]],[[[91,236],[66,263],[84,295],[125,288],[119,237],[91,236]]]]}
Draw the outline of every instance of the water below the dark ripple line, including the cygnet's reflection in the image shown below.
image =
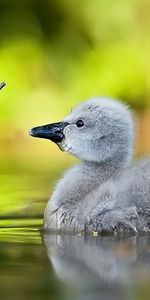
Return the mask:
{"type": "Polygon", "coordinates": [[[0,299],[150,298],[150,236],[0,229],[0,299]]]}

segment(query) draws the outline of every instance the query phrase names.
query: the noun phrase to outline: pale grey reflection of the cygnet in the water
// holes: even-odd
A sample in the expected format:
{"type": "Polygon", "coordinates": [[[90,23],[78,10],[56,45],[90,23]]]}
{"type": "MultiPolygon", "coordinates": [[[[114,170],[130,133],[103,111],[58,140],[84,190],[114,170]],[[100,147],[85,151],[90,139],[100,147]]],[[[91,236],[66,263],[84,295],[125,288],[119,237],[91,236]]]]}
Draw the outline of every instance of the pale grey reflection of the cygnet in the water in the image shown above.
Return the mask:
{"type": "Polygon", "coordinates": [[[149,299],[150,236],[43,239],[56,274],[72,288],[70,299],[149,299]]]}

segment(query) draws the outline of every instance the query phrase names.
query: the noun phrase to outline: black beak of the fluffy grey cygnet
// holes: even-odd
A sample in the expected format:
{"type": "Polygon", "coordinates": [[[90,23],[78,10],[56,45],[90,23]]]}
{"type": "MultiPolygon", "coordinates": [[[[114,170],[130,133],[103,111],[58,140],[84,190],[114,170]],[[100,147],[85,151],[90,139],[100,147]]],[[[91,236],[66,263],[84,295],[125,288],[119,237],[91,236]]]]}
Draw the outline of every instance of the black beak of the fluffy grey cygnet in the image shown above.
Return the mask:
{"type": "Polygon", "coordinates": [[[64,138],[63,130],[67,125],[67,122],[59,122],[38,126],[32,128],[29,131],[29,134],[33,137],[48,139],[52,142],[60,143],[64,138]]]}

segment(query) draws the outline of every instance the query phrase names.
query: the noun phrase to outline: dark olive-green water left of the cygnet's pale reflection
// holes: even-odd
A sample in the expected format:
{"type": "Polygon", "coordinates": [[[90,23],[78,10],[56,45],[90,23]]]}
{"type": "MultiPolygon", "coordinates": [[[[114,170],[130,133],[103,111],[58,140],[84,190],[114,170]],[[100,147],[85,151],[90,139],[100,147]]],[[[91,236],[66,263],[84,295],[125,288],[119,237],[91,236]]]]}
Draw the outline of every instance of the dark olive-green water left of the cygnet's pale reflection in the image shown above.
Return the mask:
{"type": "Polygon", "coordinates": [[[39,228],[0,228],[0,299],[60,300],[63,293],[39,228]]]}

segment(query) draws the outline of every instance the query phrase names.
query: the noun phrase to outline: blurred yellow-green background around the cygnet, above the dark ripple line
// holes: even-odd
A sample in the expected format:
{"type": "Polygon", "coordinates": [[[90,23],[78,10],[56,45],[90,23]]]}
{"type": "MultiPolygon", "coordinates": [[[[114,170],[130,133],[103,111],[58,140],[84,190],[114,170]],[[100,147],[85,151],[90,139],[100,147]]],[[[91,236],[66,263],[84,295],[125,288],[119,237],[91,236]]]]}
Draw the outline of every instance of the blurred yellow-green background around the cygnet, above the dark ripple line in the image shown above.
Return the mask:
{"type": "Polygon", "coordinates": [[[135,155],[150,152],[150,1],[0,0],[0,216],[40,216],[75,159],[28,129],[89,97],[135,110],[135,155]]]}

